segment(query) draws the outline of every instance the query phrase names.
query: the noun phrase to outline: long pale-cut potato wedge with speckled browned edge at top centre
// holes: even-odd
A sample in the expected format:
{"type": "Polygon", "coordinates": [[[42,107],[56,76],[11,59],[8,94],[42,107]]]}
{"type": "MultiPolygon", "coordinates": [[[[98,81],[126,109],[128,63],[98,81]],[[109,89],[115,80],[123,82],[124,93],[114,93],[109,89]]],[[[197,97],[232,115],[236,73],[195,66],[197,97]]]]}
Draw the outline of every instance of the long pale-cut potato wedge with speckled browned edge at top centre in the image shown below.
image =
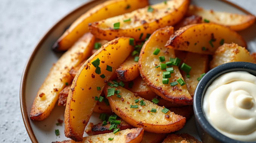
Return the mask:
{"type": "Polygon", "coordinates": [[[112,40],[120,36],[128,36],[141,41],[155,30],[173,26],[186,13],[190,0],[168,0],[167,4],[158,3],[136,11],[97,21],[89,24],[89,29],[97,38],[112,40]],[[129,21],[124,22],[124,20],[129,21]],[[120,23],[119,29],[114,29],[114,23],[120,23]],[[142,35],[143,34],[143,35],[142,35]],[[142,36],[141,36],[142,35],[142,36]]]}

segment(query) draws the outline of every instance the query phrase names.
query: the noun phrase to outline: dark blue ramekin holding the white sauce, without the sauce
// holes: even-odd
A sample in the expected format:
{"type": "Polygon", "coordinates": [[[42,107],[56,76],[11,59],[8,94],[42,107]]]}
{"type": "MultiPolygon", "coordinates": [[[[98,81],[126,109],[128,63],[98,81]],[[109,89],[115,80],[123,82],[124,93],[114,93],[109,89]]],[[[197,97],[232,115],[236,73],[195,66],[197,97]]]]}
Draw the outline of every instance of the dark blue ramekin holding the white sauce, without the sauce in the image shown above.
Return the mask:
{"type": "Polygon", "coordinates": [[[193,107],[196,117],[197,131],[203,143],[256,143],[234,140],[221,134],[207,121],[202,109],[204,94],[210,84],[220,75],[232,71],[247,71],[256,76],[256,64],[247,62],[225,63],[211,69],[197,84],[194,93],[193,107]]]}

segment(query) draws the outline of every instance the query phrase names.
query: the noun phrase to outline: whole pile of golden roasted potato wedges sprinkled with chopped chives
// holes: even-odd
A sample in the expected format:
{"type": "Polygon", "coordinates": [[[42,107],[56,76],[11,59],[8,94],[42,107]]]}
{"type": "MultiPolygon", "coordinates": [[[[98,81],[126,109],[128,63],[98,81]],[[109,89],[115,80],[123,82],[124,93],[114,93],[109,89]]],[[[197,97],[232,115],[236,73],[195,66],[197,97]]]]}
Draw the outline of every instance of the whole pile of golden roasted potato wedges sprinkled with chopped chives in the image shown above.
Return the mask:
{"type": "Polygon", "coordinates": [[[200,143],[172,132],[193,116],[194,90],[209,69],[256,63],[236,32],[253,23],[253,15],[206,10],[190,0],[107,0],[53,45],[65,53],[35,96],[30,118],[46,119],[58,101],[71,139],[62,143],[200,143]],[[93,112],[102,123],[83,137],[93,112]]]}

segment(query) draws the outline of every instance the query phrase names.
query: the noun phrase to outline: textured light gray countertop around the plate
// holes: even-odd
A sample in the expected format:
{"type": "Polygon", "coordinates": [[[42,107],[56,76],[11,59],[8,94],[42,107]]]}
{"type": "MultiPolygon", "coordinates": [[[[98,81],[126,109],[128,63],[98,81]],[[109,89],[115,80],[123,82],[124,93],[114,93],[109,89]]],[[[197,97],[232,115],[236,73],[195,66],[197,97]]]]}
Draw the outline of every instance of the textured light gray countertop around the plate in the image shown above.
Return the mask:
{"type": "MultiPolygon", "coordinates": [[[[0,143],[30,143],[20,112],[20,80],[44,33],[89,0],[0,0],[0,143]]],[[[229,0],[256,15],[256,0],[229,0]]]]}

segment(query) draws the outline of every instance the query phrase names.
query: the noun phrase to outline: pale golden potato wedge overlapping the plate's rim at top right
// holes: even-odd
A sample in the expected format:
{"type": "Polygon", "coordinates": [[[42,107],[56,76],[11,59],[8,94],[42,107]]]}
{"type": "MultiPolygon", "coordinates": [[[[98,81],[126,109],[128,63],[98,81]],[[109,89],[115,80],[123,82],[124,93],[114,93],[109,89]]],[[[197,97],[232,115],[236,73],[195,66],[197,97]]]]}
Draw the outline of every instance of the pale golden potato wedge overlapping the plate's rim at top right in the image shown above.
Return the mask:
{"type": "MultiPolygon", "coordinates": [[[[206,10],[194,5],[190,5],[187,15],[198,15],[202,17],[202,21],[208,20],[210,23],[216,23],[223,26],[230,27],[235,31],[241,31],[250,27],[255,23],[254,15],[234,14],[228,12],[219,12],[213,10],[206,10]]],[[[207,22],[208,22],[207,21],[207,22]]]]}

